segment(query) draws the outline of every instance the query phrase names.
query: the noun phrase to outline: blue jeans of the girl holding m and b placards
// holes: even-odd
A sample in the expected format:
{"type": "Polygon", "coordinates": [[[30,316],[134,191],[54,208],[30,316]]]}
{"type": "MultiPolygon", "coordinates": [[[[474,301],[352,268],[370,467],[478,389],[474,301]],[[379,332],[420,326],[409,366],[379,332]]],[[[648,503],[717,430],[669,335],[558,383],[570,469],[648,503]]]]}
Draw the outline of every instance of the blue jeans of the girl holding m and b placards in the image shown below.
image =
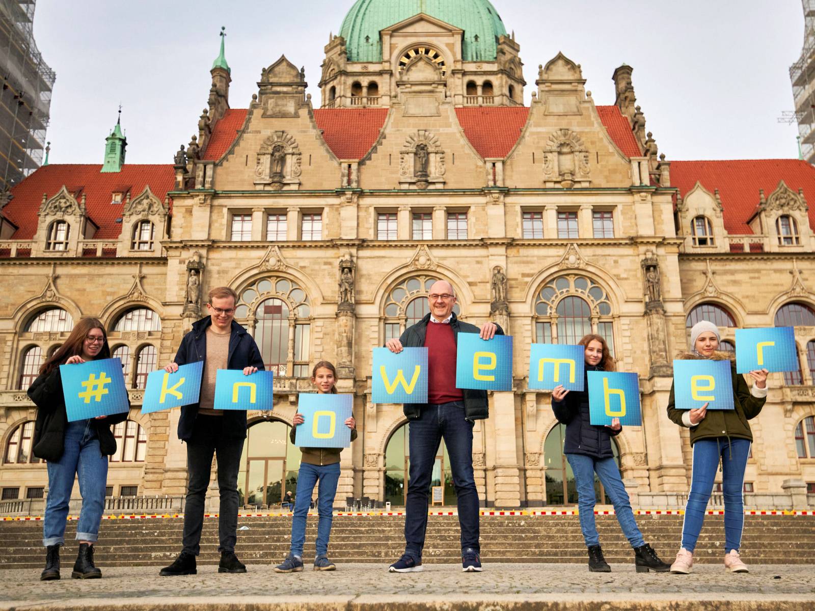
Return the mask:
{"type": "Polygon", "coordinates": [[[614,504],[615,515],[623,534],[631,543],[631,547],[642,547],[642,533],[637,528],[631,503],[628,501],[628,492],[623,486],[623,478],[619,476],[617,461],[613,458],[596,459],[593,456],[582,454],[567,454],[566,459],[575,472],[577,486],[577,507],[580,515],[580,530],[586,547],[600,545],[600,535],[597,534],[597,525],[594,523],[594,473],[600,478],[600,483],[606,489],[611,503],[614,504]]]}

